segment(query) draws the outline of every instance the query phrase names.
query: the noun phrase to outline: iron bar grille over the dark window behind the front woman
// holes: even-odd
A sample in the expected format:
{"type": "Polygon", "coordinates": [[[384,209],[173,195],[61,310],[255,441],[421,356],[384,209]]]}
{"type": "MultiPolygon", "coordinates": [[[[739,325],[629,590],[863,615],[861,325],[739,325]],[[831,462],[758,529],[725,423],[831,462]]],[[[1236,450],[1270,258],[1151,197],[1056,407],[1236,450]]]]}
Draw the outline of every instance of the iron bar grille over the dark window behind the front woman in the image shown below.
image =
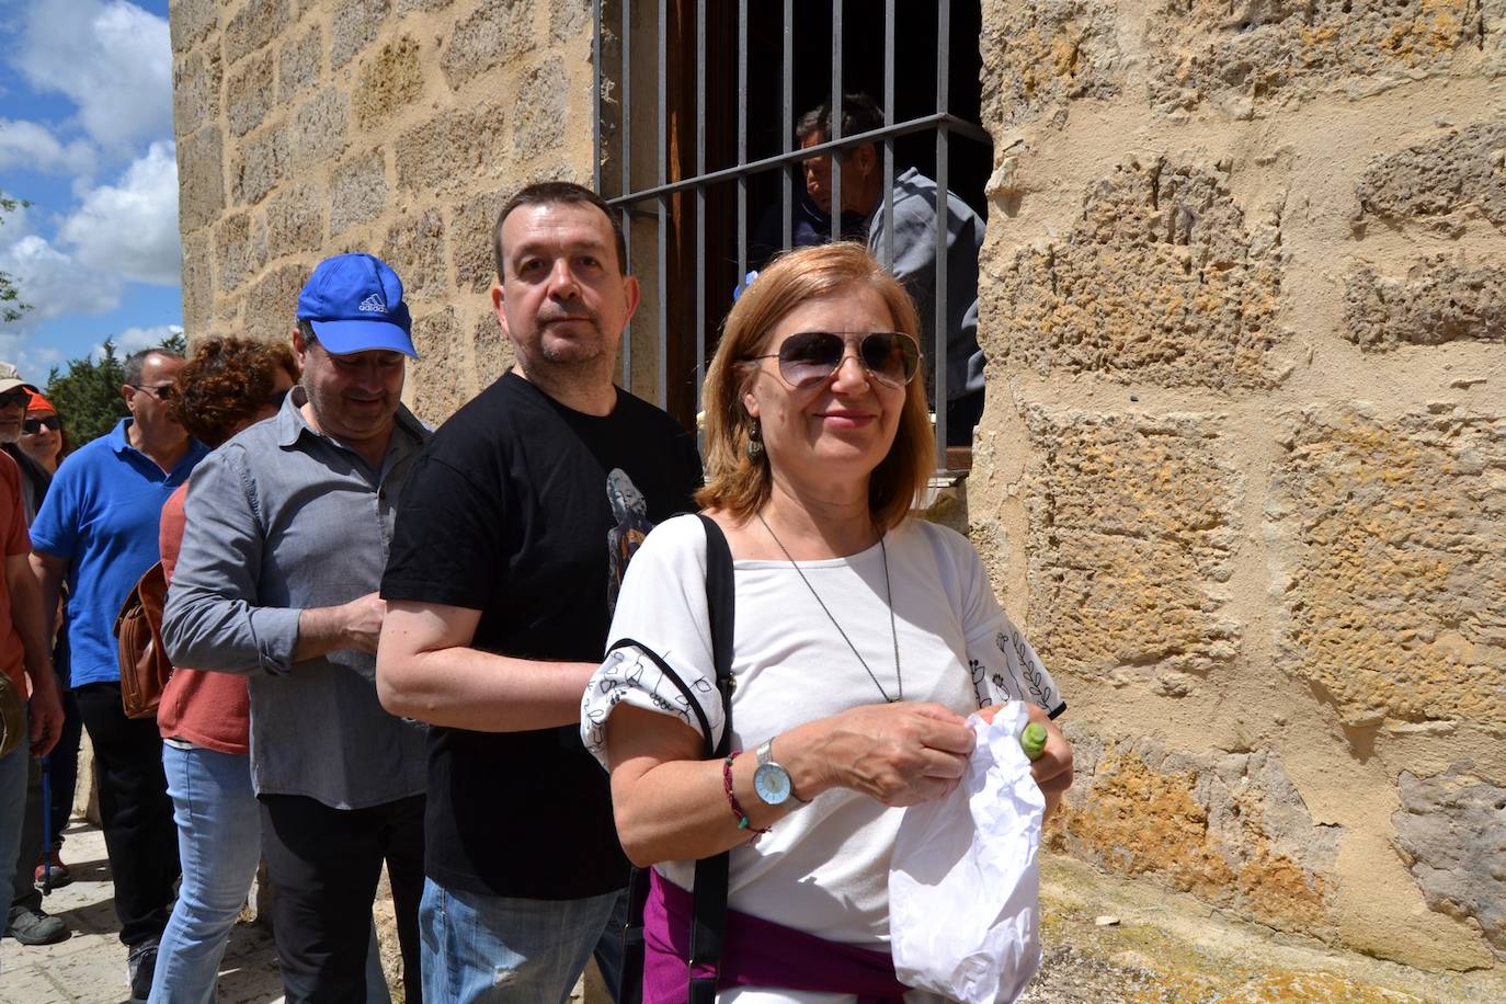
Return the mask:
{"type": "MultiPolygon", "coordinates": [[[[593,184],[622,212],[628,259],[645,284],[648,307],[640,309],[637,322],[623,333],[625,387],[652,397],[681,421],[693,421],[700,409],[706,360],[715,348],[711,339],[732,306],[733,286],[750,268],[750,208],[762,205],[773,211],[777,205],[782,248],[789,248],[795,185],[804,184],[798,175],[807,158],[831,157],[833,205],[840,208],[843,154],[875,145],[884,191],[880,209],[884,239],[878,254],[886,266],[893,262],[896,146],[905,148],[911,161],[923,160],[932,167],[944,205],[946,193],[958,181],[952,140],[965,140],[962,181],[974,193],[970,202],[979,203],[974,211],[985,214],[980,196],[992,140],[976,120],[976,86],[955,87],[959,72],[964,81],[968,71],[977,80],[977,45],[958,45],[961,65],[952,51],[959,35],[977,38],[979,5],[956,6],[955,21],[950,0],[858,5],[833,0],[830,12],[819,3],[801,3],[797,9],[794,0],[782,0],[780,6],[750,0],[593,0],[593,184]],[[857,8],[857,20],[848,17],[852,14],[848,6],[857,8]],[[870,18],[880,6],[883,23],[876,24],[870,18]],[[843,45],[848,36],[860,44],[872,41],[875,32],[883,36],[876,81],[870,47],[863,45],[858,54],[864,77],[845,62],[843,45]],[[925,74],[929,81],[910,72],[896,80],[899,38],[907,47],[907,66],[925,63],[923,51],[916,56],[916,47],[923,50],[926,39],[934,39],[932,65],[922,66],[922,71],[934,68],[934,74],[925,74]],[[813,59],[812,39],[827,39],[828,53],[813,59]],[[767,59],[774,48],[777,74],[767,59]],[[827,69],[821,80],[825,86],[812,92],[821,62],[827,69]],[[768,86],[771,78],[777,87],[768,86]],[[881,95],[872,96],[883,108],[883,128],[843,135],[842,116],[831,114],[827,141],[797,146],[797,114],[822,99],[834,110],[842,108],[843,84],[846,90],[861,89],[854,81],[881,81],[881,95]],[[806,107],[797,105],[801,84],[806,107]],[[898,101],[896,87],[902,89],[898,101]],[[934,102],[925,101],[932,90],[934,102]],[[970,117],[953,110],[959,96],[970,117]],[[735,114],[726,116],[723,110],[735,114]],[[646,129],[652,129],[648,141],[646,129]],[[928,146],[934,160],[926,158],[928,146]],[[643,331],[645,325],[651,331],[643,331]]],[[[947,214],[937,212],[935,343],[925,346],[934,379],[932,402],[947,400],[946,221],[947,214]]],[[[840,238],[840,227],[842,214],[833,212],[833,239],[840,238]]],[[[947,456],[946,406],[934,411],[937,456],[943,458],[947,456]]],[[[956,461],[953,452],[949,467],[958,465],[956,461]]]]}

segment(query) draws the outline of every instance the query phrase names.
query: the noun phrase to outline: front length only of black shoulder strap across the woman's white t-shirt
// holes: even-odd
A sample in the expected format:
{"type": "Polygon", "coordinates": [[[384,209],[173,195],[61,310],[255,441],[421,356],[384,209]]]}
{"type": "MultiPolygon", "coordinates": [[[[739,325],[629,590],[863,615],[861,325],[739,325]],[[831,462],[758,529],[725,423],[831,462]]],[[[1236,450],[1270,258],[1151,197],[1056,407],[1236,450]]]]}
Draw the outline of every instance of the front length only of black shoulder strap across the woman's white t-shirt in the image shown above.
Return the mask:
{"type": "MultiPolygon", "coordinates": [[[[699,513],[697,513],[699,515],[699,513]]],[[[732,751],[732,625],[736,590],[732,581],[732,551],[721,527],[700,515],[706,527],[706,608],[711,614],[711,658],[721,694],[721,742],[711,751],[723,759],[732,751]]],[[[711,744],[708,736],[706,744],[711,744]]],[[[721,936],[727,924],[727,863],[730,853],[696,863],[694,911],[690,921],[690,1004],[714,1004],[721,968],[721,936]],[[711,975],[696,977],[696,969],[711,975]]]]}

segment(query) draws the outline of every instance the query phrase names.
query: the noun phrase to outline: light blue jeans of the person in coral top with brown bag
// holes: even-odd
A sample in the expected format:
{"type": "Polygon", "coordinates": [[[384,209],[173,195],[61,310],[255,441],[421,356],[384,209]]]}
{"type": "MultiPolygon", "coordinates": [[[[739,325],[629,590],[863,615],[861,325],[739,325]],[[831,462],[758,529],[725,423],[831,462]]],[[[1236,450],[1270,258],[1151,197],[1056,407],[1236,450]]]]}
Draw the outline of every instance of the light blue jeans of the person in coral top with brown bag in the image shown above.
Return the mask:
{"type": "Polygon", "coordinates": [[[151,1004],[214,999],[220,960],[261,859],[250,757],[163,745],[184,881],[157,950],[151,1004]]]}

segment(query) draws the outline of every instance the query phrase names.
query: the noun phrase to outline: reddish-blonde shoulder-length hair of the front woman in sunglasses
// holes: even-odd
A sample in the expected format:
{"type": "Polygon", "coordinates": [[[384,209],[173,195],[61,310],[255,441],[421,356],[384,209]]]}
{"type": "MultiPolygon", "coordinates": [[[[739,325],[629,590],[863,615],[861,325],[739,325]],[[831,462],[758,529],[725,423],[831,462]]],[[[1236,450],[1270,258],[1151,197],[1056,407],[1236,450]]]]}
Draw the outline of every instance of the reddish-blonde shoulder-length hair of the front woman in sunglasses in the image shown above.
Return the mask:
{"type": "MultiPolygon", "coordinates": [[[[768,459],[751,461],[747,455],[748,429],[753,426],[742,405],[742,391],[751,373],[748,363],[765,351],[770,331],[791,310],[852,286],[876,292],[889,307],[895,328],[919,340],[920,319],[914,301],[861,244],[822,244],[780,254],[738,297],[723,325],[721,345],[706,370],[702,399],[706,411],[706,486],[696,494],[702,509],[721,509],[747,519],[768,503],[774,486],[768,459]]],[[[880,530],[905,518],[916,494],[935,470],[923,358],[920,366],[922,372],[905,388],[895,441],[869,477],[867,509],[880,530]]]]}

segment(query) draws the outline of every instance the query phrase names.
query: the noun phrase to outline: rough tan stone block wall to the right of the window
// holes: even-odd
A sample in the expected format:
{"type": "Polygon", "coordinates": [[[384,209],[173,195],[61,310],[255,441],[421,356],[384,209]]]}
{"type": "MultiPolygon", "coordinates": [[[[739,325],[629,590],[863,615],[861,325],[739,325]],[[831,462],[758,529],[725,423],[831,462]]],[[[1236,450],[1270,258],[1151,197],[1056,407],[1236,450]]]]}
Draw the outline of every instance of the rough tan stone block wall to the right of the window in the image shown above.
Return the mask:
{"type": "Polygon", "coordinates": [[[973,539],[1051,843],[1506,963],[1506,6],[985,0],[973,539]]]}

